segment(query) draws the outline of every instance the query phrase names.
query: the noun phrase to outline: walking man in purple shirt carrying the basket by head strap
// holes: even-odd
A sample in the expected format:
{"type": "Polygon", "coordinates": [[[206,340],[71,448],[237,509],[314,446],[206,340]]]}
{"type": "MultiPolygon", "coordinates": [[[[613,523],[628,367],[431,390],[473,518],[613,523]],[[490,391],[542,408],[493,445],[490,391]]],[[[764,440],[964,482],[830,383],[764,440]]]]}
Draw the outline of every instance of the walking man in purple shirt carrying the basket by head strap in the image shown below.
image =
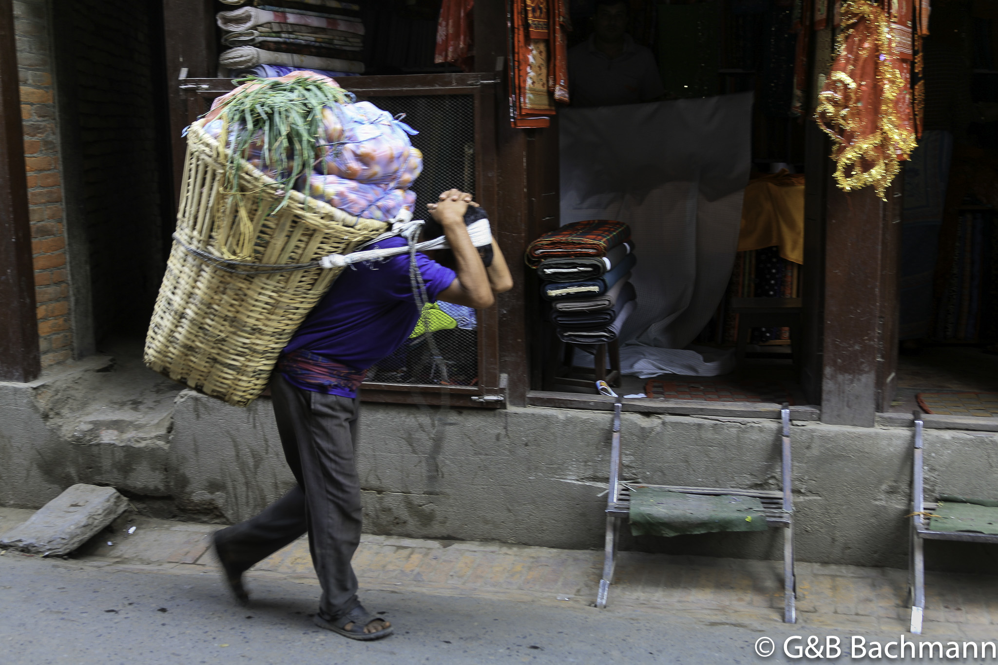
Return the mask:
{"type": "MultiPolygon", "coordinates": [[[[450,189],[429,205],[454,254],[455,269],[417,254],[430,302],[484,309],[512,279],[493,241],[486,267],[465,228],[471,195],[450,189]]],[[[405,246],[392,236],[368,249],[405,246]]],[[[393,353],[419,318],[408,254],[355,263],[344,270],[281,352],[270,380],[273,415],[284,458],[297,485],[255,517],[216,531],[226,581],[247,602],[243,573],[308,533],[322,597],[316,625],[357,640],[391,634],[391,624],[357,598],[350,563],[360,542],[360,480],[354,462],[357,389],[367,368],[393,353]]]]}

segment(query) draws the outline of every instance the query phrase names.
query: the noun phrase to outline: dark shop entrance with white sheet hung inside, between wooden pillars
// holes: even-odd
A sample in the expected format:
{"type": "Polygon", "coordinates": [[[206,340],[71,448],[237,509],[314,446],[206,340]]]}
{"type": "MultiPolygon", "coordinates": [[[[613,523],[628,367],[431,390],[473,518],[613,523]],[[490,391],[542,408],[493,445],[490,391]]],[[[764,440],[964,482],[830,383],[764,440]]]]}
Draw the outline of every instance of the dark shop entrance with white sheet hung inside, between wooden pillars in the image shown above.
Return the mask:
{"type": "MultiPolygon", "coordinates": [[[[823,269],[804,259],[804,190],[812,177],[808,154],[826,160],[826,153],[820,141],[812,142],[817,150],[805,150],[809,40],[817,33],[809,25],[801,29],[795,4],[572,4],[574,102],[559,112],[560,220],[606,216],[632,227],[639,313],[624,324],[619,339],[625,394],[817,402],[815,391],[801,382],[807,350],[817,346],[817,331],[805,325],[816,299],[805,297],[804,283],[823,269]],[[623,55],[615,55],[607,43],[622,15],[623,55]],[[654,65],[654,81],[641,70],[645,62],[654,65]],[[639,81],[639,92],[618,86],[619,99],[610,100],[614,88],[601,67],[621,80],[639,81]],[[588,77],[600,82],[599,93],[588,77]],[[660,101],[661,113],[635,106],[660,101]],[[596,152],[584,138],[594,133],[601,134],[606,150],[596,152]],[[617,173],[587,166],[586,151],[578,148],[585,144],[594,163],[621,154],[614,163],[619,173],[627,171],[627,158],[640,154],[642,138],[661,145],[661,160],[653,167],[661,172],[642,171],[645,163],[635,158],[620,177],[623,194],[607,191],[606,182],[617,173]],[[587,168],[608,172],[600,171],[586,189],[578,183],[587,168]],[[668,187],[659,188],[663,182],[668,187]],[[678,191],[684,186],[685,193],[678,191]],[[682,270],[681,262],[688,264],[682,270]]],[[[650,157],[648,164],[653,162],[650,157]]],[[[823,186],[824,177],[819,168],[813,186],[823,186]]],[[[539,316],[550,319],[544,311],[539,316]]],[[[556,327],[549,323],[546,331],[546,355],[557,364],[556,327]]],[[[592,367],[591,350],[580,347],[575,364],[592,367]]],[[[558,371],[547,373],[545,390],[578,390],[559,383],[558,371]]]]}

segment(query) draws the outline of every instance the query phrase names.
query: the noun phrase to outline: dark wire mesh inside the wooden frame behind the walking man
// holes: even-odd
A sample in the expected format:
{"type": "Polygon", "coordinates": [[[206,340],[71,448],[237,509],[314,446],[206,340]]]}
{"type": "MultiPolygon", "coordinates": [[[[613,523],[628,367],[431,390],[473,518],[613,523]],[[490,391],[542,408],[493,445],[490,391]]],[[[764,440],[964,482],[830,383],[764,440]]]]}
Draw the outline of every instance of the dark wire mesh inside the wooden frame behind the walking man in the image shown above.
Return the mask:
{"type": "MultiPolygon", "coordinates": [[[[416,218],[426,204],[452,187],[475,193],[475,117],[471,95],[377,97],[371,102],[419,134],[412,145],[423,154],[423,172],[413,183],[416,218]]],[[[444,252],[441,252],[444,253],[444,252]]],[[[446,256],[436,258],[446,261],[446,256]]],[[[390,384],[475,386],[478,384],[478,321],[475,310],[449,303],[429,305],[417,334],[367,373],[367,381],[390,384]],[[429,330],[428,333],[424,331],[429,330]]]]}

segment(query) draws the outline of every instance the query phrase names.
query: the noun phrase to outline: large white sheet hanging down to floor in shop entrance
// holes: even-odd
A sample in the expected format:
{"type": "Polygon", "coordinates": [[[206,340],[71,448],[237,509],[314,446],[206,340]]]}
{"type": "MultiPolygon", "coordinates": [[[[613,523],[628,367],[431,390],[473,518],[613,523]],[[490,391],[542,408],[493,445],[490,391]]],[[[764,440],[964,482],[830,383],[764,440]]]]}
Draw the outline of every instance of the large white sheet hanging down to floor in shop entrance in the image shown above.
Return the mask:
{"type": "MultiPolygon", "coordinates": [[[[638,308],[621,336],[625,373],[647,373],[633,371],[645,357],[668,369],[654,349],[684,349],[721,302],[749,181],[750,127],[750,93],[559,111],[561,223],[617,219],[633,233],[638,308]]],[[[688,354],[674,373],[730,371],[693,350],[666,355],[688,354]]]]}

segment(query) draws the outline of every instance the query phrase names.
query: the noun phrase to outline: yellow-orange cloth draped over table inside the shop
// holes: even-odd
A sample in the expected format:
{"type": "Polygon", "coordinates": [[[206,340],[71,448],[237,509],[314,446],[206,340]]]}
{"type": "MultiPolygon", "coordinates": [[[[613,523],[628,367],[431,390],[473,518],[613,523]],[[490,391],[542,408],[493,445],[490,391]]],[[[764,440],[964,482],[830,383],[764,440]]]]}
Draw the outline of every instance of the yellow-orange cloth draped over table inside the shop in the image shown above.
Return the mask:
{"type": "Polygon", "coordinates": [[[804,176],[783,169],[753,178],[742,204],[739,251],[779,246],[787,261],[804,262],[804,176]]]}

